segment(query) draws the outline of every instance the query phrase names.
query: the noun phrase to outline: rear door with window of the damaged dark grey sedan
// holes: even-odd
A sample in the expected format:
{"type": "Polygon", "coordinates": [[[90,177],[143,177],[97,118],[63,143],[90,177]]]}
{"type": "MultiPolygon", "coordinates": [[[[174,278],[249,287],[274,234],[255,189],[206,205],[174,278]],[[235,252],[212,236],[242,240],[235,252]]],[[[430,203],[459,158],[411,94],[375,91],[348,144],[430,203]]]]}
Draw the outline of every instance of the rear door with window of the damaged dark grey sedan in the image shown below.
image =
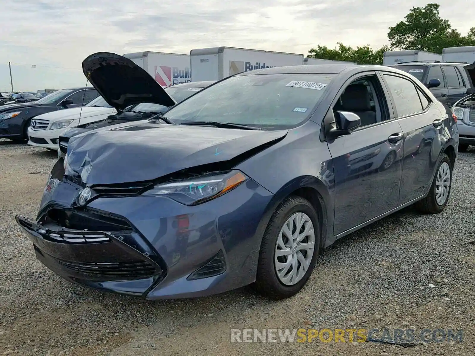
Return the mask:
{"type": "Polygon", "coordinates": [[[399,190],[399,205],[402,205],[428,192],[442,150],[439,137],[445,123],[440,120],[441,113],[435,103],[415,81],[393,73],[381,74],[404,134],[399,190]]]}

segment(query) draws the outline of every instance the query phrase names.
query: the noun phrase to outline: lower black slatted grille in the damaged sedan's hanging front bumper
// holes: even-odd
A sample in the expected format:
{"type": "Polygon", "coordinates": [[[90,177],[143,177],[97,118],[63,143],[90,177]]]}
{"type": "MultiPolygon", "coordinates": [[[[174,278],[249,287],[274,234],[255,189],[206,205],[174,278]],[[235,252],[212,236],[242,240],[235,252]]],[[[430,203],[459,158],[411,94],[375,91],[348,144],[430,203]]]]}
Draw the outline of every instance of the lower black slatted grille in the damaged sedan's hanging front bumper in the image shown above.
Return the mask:
{"type": "Polygon", "coordinates": [[[102,262],[102,263],[84,263],[56,261],[62,266],[80,273],[93,274],[95,276],[125,279],[142,279],[154,276],[157,269],[151,262],[102,262]]]}

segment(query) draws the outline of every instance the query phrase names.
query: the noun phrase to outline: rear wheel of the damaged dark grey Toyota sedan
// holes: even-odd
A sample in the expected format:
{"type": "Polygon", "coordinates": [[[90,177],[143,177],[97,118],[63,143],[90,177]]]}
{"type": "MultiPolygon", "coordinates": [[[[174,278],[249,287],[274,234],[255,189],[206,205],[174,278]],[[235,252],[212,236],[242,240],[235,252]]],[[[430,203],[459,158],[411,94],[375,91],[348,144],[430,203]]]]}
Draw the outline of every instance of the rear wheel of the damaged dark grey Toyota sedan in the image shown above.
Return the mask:
{"type": "Polygon", "coordinates": [[[452,187],[452,164],[444,153],[437,167],[437,173],[430,186],[427,197],[418,201],[415,206],[422,213],[438,214],[447,205],[452,187]]]}

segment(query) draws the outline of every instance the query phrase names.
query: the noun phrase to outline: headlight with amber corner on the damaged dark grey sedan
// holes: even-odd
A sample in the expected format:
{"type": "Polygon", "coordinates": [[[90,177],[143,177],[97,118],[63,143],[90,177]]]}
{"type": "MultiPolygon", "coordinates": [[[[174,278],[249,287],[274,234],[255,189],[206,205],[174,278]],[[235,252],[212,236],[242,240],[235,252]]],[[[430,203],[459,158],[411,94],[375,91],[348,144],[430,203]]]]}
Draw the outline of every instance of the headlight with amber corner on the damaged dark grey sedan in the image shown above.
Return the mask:
{"type": "Polygon", "coordinates": [[[166,196],[185,205],[197,205],[222,196],[244,183],[247,177],[238,170],[214,172],[190,179],[157,184],[142,196],[166,196]]]}

